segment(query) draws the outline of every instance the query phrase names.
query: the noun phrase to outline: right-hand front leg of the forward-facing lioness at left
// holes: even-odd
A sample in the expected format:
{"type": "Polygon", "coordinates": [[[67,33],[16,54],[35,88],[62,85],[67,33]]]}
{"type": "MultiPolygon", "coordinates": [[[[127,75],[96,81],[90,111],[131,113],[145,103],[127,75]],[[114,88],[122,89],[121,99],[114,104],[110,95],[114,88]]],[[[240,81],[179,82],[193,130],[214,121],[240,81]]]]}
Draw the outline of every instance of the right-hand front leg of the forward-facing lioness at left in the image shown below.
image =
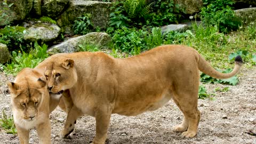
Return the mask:
{"type": "Polygon", "coordinates": [[[39,124],[36,127],[36,131],[40,144],[51,143],[51,122],[49,119],[45,123],[39,124]]]}

